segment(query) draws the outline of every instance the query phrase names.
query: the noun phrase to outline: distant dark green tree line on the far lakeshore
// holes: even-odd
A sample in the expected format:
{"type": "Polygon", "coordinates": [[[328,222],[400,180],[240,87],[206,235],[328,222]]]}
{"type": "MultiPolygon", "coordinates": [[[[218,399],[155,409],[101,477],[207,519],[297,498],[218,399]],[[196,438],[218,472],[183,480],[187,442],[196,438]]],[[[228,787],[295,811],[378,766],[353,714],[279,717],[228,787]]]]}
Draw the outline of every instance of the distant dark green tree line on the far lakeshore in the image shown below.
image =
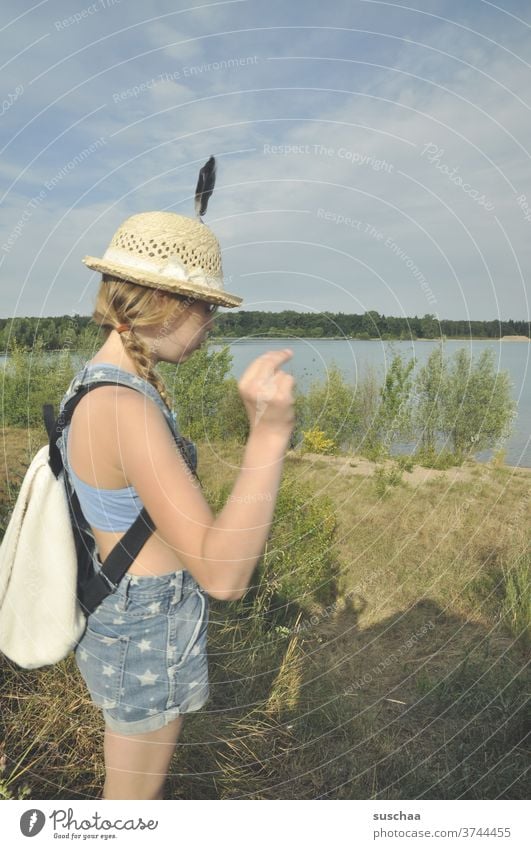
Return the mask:
{"type": "MultiPolygon", "coordinates": [[[[37,338],[45,351],[64,348],[76,350],[80,340],[96,336],[98,328],[90,316],[62,315],[45,318],[0,319],[0,350],[6,351],[16,342],[32,348],[37,338]]],[[[300,336],[313,338],[348,339],[499,339],[502,336],[528,336],[527,321],[455,321],[437,319],[428,314],[385,316],[375,310],[361,315],[355,313],[309,313],[283,310],[262,312],[239,310],[218,314],[213,336],[225,338],[300,336]]]]}

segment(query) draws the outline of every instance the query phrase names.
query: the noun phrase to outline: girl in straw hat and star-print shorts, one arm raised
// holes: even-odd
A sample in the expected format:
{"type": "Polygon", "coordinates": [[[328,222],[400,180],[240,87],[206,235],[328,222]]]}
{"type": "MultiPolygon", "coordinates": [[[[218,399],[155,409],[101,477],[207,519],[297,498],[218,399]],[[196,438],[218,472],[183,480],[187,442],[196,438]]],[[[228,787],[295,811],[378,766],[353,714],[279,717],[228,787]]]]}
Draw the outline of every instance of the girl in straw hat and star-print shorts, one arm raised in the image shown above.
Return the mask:
{"type": "MultiPolygon", "coordinates": [[[[106,339],[72,382],[119,376],[78,404],[61,451],[101,563],[145,506],[156,530],[116,592],[87,618],[76,661],[105,720],[104,799],[162,799],[185,713],[206,702],[208,597],[245,593],[271,526],[294,425],[290,350],[258,357],[239,381],[250,421],[242,468],[216,516],[176,450],[155,370],[204,341],[224,291],[219,244],[200,220],[127,219],[102,259],[93,318],[106,339]],[[140,390],[140,391],[138,391],[140,390]],[[264,497],[267,496],[267,497],[264,497]]],[[[193,444],[191,444],[193,448],[193,444]]]]}

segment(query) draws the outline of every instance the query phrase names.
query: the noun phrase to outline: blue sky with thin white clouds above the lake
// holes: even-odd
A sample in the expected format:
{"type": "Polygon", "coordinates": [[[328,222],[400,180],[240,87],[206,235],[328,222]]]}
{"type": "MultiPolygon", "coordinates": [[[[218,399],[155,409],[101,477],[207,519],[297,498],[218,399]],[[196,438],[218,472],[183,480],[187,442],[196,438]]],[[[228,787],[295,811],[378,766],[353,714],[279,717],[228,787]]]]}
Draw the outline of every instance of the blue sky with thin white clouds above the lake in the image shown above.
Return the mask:
{"type": "Polygon", "coordinates": [[[0,316],[89,315],[214,155],[241,309],[529,320],[531,9],[410,2],[4,0],[0,316]]]}

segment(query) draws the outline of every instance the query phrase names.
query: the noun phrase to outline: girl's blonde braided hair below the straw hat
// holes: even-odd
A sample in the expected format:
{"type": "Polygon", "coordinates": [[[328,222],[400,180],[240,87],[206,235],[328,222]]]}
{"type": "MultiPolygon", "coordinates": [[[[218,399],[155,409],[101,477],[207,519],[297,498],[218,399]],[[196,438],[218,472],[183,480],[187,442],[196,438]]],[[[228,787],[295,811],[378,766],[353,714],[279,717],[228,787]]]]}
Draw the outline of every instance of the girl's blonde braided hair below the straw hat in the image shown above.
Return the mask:
{"type": "Polygon", "coordinates": [[[140,377],[151,383],[171,410],[164,381],[153,367],[149,348],[135,333],[135,329],[158,324],[167,325],[180,313],[184,314],[192,299],[160,290],[159,294],[164,295],[163,299],[157,299],[155,290],[147,286],[104,274],[96,296],[92,320],[103,329],[105,340],[118,325],[129,325],[130,330],[120,333],[126,353],[135,363],[140,377]]]}

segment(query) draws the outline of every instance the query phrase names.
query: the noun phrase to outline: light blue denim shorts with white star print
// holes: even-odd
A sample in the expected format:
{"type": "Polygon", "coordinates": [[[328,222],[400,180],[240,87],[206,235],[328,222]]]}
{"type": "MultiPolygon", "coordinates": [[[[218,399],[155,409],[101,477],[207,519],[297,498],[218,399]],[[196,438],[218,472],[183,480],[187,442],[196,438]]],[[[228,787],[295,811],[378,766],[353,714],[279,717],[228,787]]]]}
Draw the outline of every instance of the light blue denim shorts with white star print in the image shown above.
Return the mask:
{"type": "Polygon", "coordinates": [[[207,594],[179,571],[126,573],[87,617],[76,663],[111,731],[155,731],[203,707],[208,614],[207,594]]]}

